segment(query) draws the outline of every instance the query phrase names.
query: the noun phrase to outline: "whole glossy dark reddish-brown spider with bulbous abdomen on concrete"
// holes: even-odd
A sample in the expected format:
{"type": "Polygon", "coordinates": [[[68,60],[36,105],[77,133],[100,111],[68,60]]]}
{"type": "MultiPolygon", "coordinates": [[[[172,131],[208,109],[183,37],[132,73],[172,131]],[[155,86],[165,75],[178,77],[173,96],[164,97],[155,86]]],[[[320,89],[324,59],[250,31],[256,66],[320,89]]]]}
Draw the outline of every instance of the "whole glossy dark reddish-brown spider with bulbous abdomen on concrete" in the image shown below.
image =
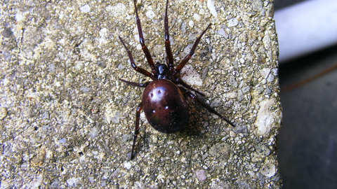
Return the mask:
{"type": "Polygon", "coordinates": [[[169,19],[167,17],[167,8],[169,6],[169,0],[166,1],[166,10],[164,18],[164,29],[165,29],[165,49],[166,49],[166,64],[154,64],[151,57],[150,51],[145,45],[145,40],[143,36],[142,26],[140,25],[140,19],[138,17],[137,2],[133,0],[136,12],[136,22],[138,27],[138,34],[140,45],[142,45],[143,52],[147,59],[147,63],[150,65],[152,73],[146,71],[143,68],[140,68],[136,65],[131,51],[126,47],[123,39],[119,36],[121,43],[124,45],[126,52],[128,53],[128,58],[130,59],[131,66],[133,69],[142,73],[143,75],[152,79],[152,81],[146,83],[134,83],[131,81],[119,80],[127,83],[128,85],[133,85],[136,87],[145,87],[143,92],[142,102],[138,105],[136,110],[136,127],[133,135],[133,145],[131,150],[131,160],[135,158],[135,146],[136,139],[139,134],[139,120],[140,120],[140,111],[144,109],[145,116],[149,121],[150,125],[154,127],[155,130],[164,133],[173,133],[182,130],[188,122],[189,106],[185,99],[185,95],[190,97],[196,102],[199,102],[201,106],[204,106],[211,113],[216,114],[227,123],[234,127],[234,124],[230,122],[227,118],[223,117],[215,109],[213,109],[208,104],[202,102],[195,94],[191,91],[201,94],[203,93],[193,89],[190,85],[187,85],[183,80],[180,79],[180,71],[183,69],[185,64],[191,59],[194,54],[195,48],[200,42],[201,37],[205,34],[207,29],[211,27],[211,24],[206,27],[206,29],[201,33],[192,46],[190,53],[178,64],[174,66],[173,63],[173,54],[171,50],[170,35],[169,35],[169,19]]]}

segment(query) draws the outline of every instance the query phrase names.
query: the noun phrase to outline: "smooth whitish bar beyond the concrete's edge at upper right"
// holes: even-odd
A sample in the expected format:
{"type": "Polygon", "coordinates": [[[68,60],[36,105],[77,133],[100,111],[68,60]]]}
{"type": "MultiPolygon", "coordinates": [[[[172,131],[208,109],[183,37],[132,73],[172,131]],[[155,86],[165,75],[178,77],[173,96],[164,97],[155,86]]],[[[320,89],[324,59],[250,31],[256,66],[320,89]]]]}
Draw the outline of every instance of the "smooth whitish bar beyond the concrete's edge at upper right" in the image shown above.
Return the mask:
{"type": "Polygon", "coordinates": [[[337,3],[303,1],[275,11],[279,62],[308,55],[337,43],[337,3]]]}

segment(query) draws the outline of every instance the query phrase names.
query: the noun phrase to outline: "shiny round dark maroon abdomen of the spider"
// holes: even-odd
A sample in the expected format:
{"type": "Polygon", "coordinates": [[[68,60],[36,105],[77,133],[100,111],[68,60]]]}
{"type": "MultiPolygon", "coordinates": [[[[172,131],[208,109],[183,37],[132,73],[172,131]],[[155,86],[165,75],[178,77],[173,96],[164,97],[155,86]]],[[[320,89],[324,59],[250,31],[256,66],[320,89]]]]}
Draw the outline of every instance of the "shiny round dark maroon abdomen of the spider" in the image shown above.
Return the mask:
{"type": "Polygon", "coordinates": [[[187,101],[171,80],[153,80],[143,92],[143,103],[147,120],[159,132],[178,132],[188,122],[187,101]]]}

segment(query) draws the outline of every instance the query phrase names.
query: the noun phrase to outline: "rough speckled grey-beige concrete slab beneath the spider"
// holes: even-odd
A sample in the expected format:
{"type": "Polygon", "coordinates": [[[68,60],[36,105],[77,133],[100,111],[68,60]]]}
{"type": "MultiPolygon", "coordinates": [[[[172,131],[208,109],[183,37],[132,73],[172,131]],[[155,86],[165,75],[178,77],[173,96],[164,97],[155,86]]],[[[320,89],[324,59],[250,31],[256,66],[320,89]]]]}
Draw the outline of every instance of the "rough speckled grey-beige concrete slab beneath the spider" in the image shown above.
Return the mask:
{"type": "MultiPolygon", "coordinates": [[[[166,1],[138,1],[145,42],[164,62],[166,1]]],[[[185,80],[185,130],[162,134],[136,107],[149,80],[134,71],[118,36],[148,70],[133,1],[2,1],[0,7],[1,188],[280,188],[282,113],[272,1],[171,0],[179,62],[209,23],[185,80]],[[187,48],[186,48],[187,47],[187,48]],[[189,72],[190,71],[190,72],[189,72]],[[193,76],[193,78],[191,78],[193,76]]]]}

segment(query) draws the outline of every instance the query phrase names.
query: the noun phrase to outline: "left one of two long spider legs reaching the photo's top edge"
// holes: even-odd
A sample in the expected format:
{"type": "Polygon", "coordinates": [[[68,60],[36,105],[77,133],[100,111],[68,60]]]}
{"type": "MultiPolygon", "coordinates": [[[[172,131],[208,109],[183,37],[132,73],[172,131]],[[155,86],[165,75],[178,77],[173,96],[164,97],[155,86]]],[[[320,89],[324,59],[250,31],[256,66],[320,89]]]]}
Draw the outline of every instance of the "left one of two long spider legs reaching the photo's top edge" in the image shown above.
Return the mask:
{"type": "Polygon", "coordinates": [[[137,9],[137,0],[133,0],[133,3],[135,4],[135,11],[136,11],[136,22],[137,22],[137,27],[138,27],[138,34],[139,34],[139,42],[140,45],[142,45],[142,50],[145,54],[145,57],[147,59],[147,63],[149,63],[152,73],[156,73],[156,67],[154,66],[153,59],[151,57],[151,53],[149,49],[147,49],[147,46],[145,45],[145,40],[143,36],[143,30],[142,30],[142,25],[140,25],[140,19],[138,17],[138,9],[137,9]]]}

